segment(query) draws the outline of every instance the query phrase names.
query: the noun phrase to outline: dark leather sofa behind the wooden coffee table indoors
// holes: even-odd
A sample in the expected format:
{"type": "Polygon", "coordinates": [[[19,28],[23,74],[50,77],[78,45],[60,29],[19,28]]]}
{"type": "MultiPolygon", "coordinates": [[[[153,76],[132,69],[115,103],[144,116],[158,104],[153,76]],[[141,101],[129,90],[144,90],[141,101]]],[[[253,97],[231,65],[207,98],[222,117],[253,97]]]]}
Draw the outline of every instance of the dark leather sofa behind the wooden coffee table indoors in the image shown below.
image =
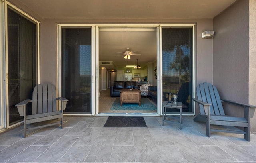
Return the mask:
{"type": "Polygon", "coordinates": [[[110,97],[120,97],[122,89],[138,89],[136,81],[114,81],[113,86],[110,87],[110,97]]]}

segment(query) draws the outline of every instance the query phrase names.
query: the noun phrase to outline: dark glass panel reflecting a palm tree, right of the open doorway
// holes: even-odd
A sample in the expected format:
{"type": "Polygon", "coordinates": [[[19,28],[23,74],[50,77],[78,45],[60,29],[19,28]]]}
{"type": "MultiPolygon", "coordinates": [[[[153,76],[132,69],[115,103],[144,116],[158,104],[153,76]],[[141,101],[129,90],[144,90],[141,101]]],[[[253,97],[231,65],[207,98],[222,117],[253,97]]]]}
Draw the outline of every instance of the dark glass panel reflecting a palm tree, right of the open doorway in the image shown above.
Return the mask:
{"type": "Polygon", "coordinates": [[[162,29],[162,80],[163,100],[170,89],[183,103],[182,112],[192,112],[192,27],[162,29]]]}

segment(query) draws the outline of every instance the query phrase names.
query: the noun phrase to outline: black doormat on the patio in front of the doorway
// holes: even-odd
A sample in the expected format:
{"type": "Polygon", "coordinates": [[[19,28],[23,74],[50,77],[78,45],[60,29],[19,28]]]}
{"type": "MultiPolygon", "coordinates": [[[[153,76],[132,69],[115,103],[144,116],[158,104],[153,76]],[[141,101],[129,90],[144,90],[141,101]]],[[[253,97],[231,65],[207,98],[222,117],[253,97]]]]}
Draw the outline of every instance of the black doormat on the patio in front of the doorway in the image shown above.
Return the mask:
{"type": "Polygon", "coordinates": [[[108,117],[104,127],[147,127],[143,117],[108,117]]]}

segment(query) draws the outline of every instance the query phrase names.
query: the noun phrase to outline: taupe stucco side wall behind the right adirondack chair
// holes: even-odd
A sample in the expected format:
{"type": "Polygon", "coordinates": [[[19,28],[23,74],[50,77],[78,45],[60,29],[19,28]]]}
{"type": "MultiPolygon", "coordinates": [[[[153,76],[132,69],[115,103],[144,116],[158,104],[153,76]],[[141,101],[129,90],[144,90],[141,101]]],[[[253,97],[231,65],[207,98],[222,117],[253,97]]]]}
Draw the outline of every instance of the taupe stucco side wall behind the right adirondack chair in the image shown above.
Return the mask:
{"type": "MultiPolygon", "coordinates": [[[[213,84],[221,98],[248,103],[249,1],[238,0],[216,16],[213,29],[213,84]]],[[[243,109],[225,104],[224,107],[228,115],[243,116],[243,109]]]]}

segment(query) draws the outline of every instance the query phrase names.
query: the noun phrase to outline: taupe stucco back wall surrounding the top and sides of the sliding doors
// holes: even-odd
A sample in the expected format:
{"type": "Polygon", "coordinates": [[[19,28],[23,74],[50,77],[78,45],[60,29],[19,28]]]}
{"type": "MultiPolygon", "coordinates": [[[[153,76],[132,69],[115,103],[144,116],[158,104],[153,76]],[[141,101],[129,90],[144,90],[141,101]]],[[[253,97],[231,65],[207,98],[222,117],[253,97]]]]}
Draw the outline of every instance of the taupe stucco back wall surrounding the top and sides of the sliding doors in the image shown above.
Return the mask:
{"type": "Polygon", "coordinates": [[[212,82],[212,39],[202,39],[201,33],[212,29],[212,20],[81,20],[43,19],[40,23],[41,82],[56,83],[57,24],[58,23],[196,23],[196,74],[197,81],[212,82]],[[50,64],[49,64],[50,62],[50,64]]]}

